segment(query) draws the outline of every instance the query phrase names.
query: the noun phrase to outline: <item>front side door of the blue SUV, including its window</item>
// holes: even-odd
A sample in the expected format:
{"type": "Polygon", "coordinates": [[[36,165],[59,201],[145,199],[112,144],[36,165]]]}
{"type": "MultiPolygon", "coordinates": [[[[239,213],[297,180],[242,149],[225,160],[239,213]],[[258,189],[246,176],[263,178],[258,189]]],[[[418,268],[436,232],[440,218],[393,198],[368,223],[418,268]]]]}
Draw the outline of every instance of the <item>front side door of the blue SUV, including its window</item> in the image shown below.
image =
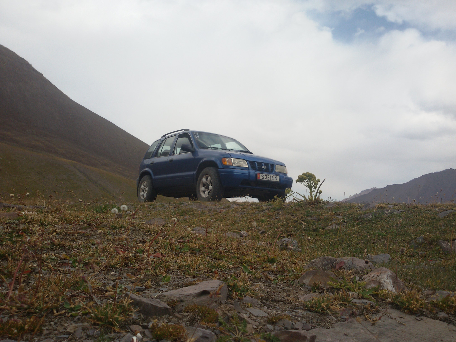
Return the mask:
{"type": "Polygon", "coordinates": [[[192,152],[181,150],[183,144],[193,147],[188,133],[181,133],[177,136],[173,154],[168,159],[167,173],[171,179],[171,186],[176,191],[194,190],[195,158],[192,152]]]}

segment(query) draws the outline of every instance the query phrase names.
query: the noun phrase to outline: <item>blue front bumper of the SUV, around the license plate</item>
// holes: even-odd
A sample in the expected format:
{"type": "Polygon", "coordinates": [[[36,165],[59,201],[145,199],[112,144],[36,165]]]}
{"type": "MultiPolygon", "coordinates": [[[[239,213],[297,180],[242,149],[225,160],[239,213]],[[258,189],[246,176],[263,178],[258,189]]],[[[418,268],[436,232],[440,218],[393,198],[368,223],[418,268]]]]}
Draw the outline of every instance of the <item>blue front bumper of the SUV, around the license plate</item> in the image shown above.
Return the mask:
{"type": "MultiPolygon", "coordinates": [[[[285,191],[286,188],[291,188],[293,179],[285,176],[283,173],[273,172],[271,175],[277,175],[280,182],[258,181],[257,171],[242,170],[237,168],[218,169],[222,185],[225,188],[240,188],[240,189],[256,189],[265,191],[285,191]]],[[[261,173],[261,172],[260,172],[261,173]]],[[[268,173],[269,174],[269,173],[268,173]]]]}

